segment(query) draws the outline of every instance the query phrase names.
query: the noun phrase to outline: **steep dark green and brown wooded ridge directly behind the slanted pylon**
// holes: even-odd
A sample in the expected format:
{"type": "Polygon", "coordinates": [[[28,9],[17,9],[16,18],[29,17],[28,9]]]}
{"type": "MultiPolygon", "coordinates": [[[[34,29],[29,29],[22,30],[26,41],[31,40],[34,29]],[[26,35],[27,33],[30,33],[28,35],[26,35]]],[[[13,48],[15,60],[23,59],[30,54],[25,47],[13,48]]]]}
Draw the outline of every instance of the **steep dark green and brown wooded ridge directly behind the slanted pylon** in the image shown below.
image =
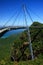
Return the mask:
{"type": "MultiPolygon", "coordinates": [[[[31,35],[31,42],[32,42],[32,46],[33,46],[33,53],[34,53],[34,57],[37,57],[40,53],[43,53],[43,28],[42,28],[43,24],[38,23],[38,22],[34,22],[31,26],[30,26],[30,35],[31,35]]],[[[15,39],[14,41],[14,47],[13,47],[13,51],[17,50],[16,52],[18,52],[16,60],[18,59],[19,56],[21,56],[19,58],[19,60],[21,60],[21,58],[24,60],[28,60],[31,59],[31,54],[30,54],[30,50],[29,50],[29,45],[24,45],[27,44],[29,37],[27,34],[27,30],[25,30],[23,33],[20,34],[20,36],[18,38],[15,39]],[[21,49],[23,52],[20,53],[21,49]],[[24,54],[24,55],[23,55],[24,54]],[[25,56],[25,57],[24,57],[25,56]]],[[[14,55],[14,53],[13,53],[14,55]]],[[[15,54],[16,56],[16,54],[15,54]]]]}

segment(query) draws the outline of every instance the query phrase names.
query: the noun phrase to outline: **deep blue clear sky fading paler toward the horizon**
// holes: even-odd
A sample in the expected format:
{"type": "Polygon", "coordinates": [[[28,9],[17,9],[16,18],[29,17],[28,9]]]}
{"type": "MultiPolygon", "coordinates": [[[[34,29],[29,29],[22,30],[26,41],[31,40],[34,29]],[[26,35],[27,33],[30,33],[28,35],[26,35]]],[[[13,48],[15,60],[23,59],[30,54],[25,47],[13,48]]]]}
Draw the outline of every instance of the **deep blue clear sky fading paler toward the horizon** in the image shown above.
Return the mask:
{"type": "MultiPolygon", "coordinates": [[[[3,26],[14,15],[6,24],[8,26],[12,25],[18,13],[17,20],[13,25],[25,25],[23,4],[26,4],[33,21],[43,23],[43,0],[0,0],[0,26],[3,26]]],[[[26,16],[27,24],[32,24],[27,13],[26,16]]]]}

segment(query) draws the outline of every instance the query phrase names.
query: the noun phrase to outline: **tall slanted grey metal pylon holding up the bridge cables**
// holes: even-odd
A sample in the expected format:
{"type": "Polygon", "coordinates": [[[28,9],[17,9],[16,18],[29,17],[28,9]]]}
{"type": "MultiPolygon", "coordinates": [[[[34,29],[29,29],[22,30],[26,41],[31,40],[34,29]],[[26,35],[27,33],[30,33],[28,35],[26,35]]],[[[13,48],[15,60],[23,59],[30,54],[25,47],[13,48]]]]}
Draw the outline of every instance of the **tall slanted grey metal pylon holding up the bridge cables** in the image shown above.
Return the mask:
{"type": "MultiPolygon", "coordinates": [[[[26,12],[27,12],[27,8],[25,5],[23,5],[23,11],[24,11],[24,16],[25,16],[25,22],[26,22],[26,29],[27,29],[27,34],[28,34],[28,42],[29,42],[29,47],[30,47],[30,52],[31,52],[31,58],[32,60],[34,60],[34,55],[33,55],[33,49],[32,49],[32,43],[31,43],[31,37],[30,37],[30,30],[29,27],[27,25],[27,20],[26,20],[26,12]]],[[[30,13],[29,13],[29,17],[31,19],[31,21],[33,22],[30,13]]]]}

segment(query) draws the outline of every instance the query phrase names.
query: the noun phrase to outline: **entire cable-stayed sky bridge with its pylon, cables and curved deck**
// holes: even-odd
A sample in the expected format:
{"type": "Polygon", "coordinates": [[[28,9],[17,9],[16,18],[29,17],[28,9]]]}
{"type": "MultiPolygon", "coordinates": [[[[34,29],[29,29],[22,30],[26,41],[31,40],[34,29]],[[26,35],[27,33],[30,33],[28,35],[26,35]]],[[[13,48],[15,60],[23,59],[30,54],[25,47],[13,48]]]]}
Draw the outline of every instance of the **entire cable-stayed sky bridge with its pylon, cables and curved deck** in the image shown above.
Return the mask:
{"type": "MultiPolygon", "coordinates": [[[[14,14],[13,14],[12,17],[8,21],[6,21],[4,23],[3,27],[0,28],[0,37],[2,37],[6,32],[8,32],[10,30],[27,29],[27,32],[28,32],[28,42],[29,42],[29,45],[30,45],[31,57],[32,57],[32,60],[33,60],[34,59],[34,55],[33,55],[33,49],[32,49],[31,37],[30,37],[30,30],[29,30],[30,27],[28,26],[28,23],[27,23],[26,13],[28,14],[28,16],[29,16],[30,20],[32,21],[32,23],[33,23],[33,19],[32,19],[31,15],[30,15],[30,13],[29,13],[29,11],[28,11],[28,9],[27,9],[27,7],[25,5],[23,5],[22,9],[23,9],[23,15],[24,15],[24,20],[25,20],[26,26],[18,26],[18,25],[14,26],[14,24],[15,24],[15,22],[16,22],[16,20],[17,20],[17,18],[18,18],[20,13],[17,14],[17,16],[15,18],[15,21],[13,21],[11,26],[6,26],[7,23],[9,23],[9,21],[14,17],[14,14]]],[[[21,24],[22,24],[22,22],[21,22],[21,24]]],[[[40,27],[38,27],[38,26],[35,26],[35,27],[32,26],[31,28],[39,28],[39,30],[40,30],[40,27]]],[[[41,27],[41,28],[43,29],[43,27],[41,27]]]]}

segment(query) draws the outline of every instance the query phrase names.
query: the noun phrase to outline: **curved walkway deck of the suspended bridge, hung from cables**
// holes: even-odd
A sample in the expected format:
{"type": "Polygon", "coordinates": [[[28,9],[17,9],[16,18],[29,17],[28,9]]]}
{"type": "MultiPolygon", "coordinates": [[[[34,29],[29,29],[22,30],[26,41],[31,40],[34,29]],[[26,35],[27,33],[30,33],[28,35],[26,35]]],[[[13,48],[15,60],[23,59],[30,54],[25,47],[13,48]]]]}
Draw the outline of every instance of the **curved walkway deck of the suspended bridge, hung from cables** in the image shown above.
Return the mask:
{"type": "MultiPolygon", "coordinates": [[[[26,26],[8,26],[8,27],[2,27],[0,28],[0,37],[2,37],[6,32],[10,31],[10,30],[17,30],[17,29],[26,29],[26,26]]],[[[32,26],[30,28],[39,28],[39,29],[43,29],[43,27],[37,27],[37,26],[32,26]]]]}

